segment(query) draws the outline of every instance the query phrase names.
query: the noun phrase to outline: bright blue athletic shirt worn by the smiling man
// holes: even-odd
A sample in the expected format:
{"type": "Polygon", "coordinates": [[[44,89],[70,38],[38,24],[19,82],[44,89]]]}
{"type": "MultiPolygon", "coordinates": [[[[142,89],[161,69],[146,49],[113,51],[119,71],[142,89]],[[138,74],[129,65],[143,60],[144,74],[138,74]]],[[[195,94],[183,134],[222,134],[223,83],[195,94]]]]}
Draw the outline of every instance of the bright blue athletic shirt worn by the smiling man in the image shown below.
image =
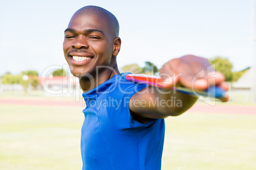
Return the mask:
{"type": "Polygon", "coordinates": [[[145,87],[114,75],[83,93],[83,169],[160,169],[164,119],[141,124],[129,110],[131,96],[145,87]]]}

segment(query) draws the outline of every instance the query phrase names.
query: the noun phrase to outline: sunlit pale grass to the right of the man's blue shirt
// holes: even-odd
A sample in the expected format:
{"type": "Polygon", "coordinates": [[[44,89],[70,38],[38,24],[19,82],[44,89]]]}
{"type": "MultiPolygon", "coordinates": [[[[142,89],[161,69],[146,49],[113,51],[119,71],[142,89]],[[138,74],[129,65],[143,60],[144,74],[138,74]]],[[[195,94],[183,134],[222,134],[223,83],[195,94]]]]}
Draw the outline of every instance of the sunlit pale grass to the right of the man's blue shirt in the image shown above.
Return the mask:
{"type": "Polygon", "coordinates": [[[256,169],[255,122],[242,114],[169,117],[162,169],[256,169]]]}

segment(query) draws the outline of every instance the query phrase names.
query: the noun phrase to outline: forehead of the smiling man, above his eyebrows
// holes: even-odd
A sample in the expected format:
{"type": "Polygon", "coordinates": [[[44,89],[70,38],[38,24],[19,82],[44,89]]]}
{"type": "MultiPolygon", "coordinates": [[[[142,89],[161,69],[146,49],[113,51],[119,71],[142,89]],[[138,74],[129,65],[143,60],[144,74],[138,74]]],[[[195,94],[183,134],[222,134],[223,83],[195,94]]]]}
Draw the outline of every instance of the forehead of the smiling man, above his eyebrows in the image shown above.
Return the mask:
{"type": "Polygon", "coordinates": [[[86,29],[97,29],[104,32],[104,34],[111,34],[111,22],[106,15],[99,15],[95,13],[75,14],[72,16],[69,29],[83,31],[86,29]]]}

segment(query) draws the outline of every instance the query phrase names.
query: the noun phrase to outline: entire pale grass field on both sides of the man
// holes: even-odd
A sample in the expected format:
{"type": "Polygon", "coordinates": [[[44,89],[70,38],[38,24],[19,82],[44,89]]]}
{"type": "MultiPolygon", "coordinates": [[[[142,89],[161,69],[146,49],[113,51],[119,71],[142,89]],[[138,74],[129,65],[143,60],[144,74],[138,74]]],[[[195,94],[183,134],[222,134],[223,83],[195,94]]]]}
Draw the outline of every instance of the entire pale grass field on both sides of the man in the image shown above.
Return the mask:
{"type": "MultiPolygon", "coordinates": [[[[82,107],[0,105],[0,169],[82,169],[82,107]]],[[[256,115],[166,119],[162,169],[256,169],[256,115]]]]}

